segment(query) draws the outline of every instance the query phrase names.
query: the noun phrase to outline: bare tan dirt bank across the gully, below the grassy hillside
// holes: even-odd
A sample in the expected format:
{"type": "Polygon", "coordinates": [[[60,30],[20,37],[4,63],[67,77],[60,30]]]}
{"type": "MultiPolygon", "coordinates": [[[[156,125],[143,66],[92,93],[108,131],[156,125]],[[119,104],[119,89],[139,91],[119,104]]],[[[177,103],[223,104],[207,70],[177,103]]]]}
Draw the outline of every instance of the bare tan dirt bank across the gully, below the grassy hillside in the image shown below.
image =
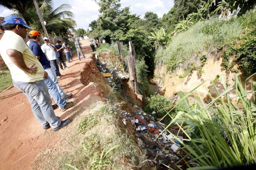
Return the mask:
{"type": "MultiPolygon", "coordinates": [[[[178,68],[174,72],[168,72],[165,68],[165,65],[158,64],[155,70],[155,75],[158,80],[161,81],[160,85],[160,93],[166,97],[172,97],[173,95],[177,94],[179,91],[189,92],[197,85],[200,85],[205,80],[214,80],[217,75],[223,74],[226,78],[227,84],[231,84],[234,81],[234,74],[230,73],[227,75],[225,70],[221,70],[221,62],[222,58],[218,58],[217,60],[214,59],[214,56],[209,56],[206,63],[203,67],[203,73],[198,72],[197,70],[193,70],[191,76],[186,76],[185,78],[179,78],[179,75],[184,73],[182,68],[178,68]]],[[[241,78],[242,82],[244,82],[245,77],[241,72],[238,73],[239,77],[241,78]]],[[[250,82],[252,78],[248,81],[250,82]]],[[[197,91],[199,92],[200,96],[204,100],[210,100],[208,96],[208,89],[212,85],[211,81],[205,82],[197,91]]],[[[216,83],[217,88],[220,92],[223,92],[223,86],[220,83],[220,80],[216,83]]],[[[251,89],[251,85],[247,85],[247,89],[251,89]]],[[[213,97],[216,97],[216,92],[214,89],[211,90],[211,94],[213,97]]],[[[195,95],[198,95],[195,93],[195,95]]],[[[234,97],[235,91],[230,93],[230,97],[234,97]]]]}

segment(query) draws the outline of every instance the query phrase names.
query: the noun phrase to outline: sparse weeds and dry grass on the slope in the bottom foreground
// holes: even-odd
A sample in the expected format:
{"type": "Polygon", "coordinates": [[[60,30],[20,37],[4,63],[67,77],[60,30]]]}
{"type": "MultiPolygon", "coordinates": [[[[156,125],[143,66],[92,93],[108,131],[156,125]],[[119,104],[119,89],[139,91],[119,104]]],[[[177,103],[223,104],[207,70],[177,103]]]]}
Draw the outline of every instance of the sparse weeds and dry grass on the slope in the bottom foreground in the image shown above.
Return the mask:
{"type": "MultiPolygon", "coordinates": [[[[100,125],[88,124],[83,141],[61,155],[58,169],[129,169],[144,165],[145,155],[132,143],[132,137],[116,126],[115,108],[106,103],[92,113],[100,125]]],[[[84,119],[78,124],[80,131],[81,126],[86,126],[84,119]]]]}

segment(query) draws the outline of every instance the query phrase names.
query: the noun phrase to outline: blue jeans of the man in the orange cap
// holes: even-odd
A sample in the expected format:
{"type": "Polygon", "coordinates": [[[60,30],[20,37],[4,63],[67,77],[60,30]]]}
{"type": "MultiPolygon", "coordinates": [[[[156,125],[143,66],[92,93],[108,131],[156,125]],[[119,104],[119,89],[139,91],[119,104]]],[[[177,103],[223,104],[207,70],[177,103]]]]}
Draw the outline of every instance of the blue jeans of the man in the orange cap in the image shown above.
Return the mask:
{"type": "Polygon", "coordinates": [[[57,86],[55,85],[55,83],[52,81],[52,79],[50,78],[50,76],[48,76],[47,78],[44,78],[44,83],[47,85],[48,87],[48,91],[52,97],[52,99],[55,101],[55,103],[60,107],[65,107],[65,105],[67,104],[67,102],[63,99],[61,99],[60,93],[58,92],[57,86]]]}

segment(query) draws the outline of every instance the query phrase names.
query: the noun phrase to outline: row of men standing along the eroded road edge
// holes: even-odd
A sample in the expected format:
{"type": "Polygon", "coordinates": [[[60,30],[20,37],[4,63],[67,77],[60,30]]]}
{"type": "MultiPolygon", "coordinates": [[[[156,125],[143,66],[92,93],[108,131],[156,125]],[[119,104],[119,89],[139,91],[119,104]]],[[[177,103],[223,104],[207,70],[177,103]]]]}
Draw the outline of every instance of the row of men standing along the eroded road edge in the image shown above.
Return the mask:
{"type": "MultiPolygon", "coordinates": [[[[61,54],[66,47],[61,46],[60,41],[56,45],[50,44],[47,37],[43,38],[45,43],[40,47],[42,35],[37,31],[29,32],[31,41],[28,46],[23,40],[28,28],[31,29],[19,17],[10,15],[4,18],[1,23],[4,35],[0,40],[0,53],[11,72],[13,85],[27,96],[36,120],[43,129],[52,127],[53,131],[57,131],[68,125],[70,119],[60,121],[55,115],[50,95],[60,111],[73,106],[72,101],[65,101],[72,94],[65,94],[57,80],[57,76],[61,76],[57,60],[61,69],[61,63],[68,68],[61,54]]],[[[81,47],[79,49],[82,53],[81,47]]]]}

